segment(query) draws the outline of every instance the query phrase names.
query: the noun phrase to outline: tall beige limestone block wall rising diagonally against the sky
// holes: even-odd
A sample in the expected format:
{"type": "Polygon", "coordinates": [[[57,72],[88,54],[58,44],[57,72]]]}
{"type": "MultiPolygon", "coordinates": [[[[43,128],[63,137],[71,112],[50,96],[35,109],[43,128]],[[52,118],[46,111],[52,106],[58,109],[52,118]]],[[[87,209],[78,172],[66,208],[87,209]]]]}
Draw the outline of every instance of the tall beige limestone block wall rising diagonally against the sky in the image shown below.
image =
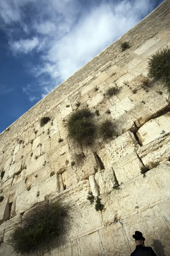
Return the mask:
{"type": "Polygon", "coordinates": [[[71,204],[74,214],[56,247],[44,245],[40,255],[130,255],[132,234],[140,230],[146,246],[158,256],[170,256],[170,98],[161,82],[143,84],[148,58],[170,47],[169,21],[170,1],[165,0],[0,134],[0,170],[5,171],[0,255],[14,255],[8,244],[12,230],[34,203],[50,195],[71,204]],[[122,52],[121,41],[129,41],[130,48],[122,52]],[[106,90],[115,86],[119,92],[107,97],[106,90]],[[94,113],[98,125],[112,120],[116,136],[76,146],[65,121],[83,107],[94,113]],[[43,116],[51,121],[40,127],[43,116]],[[79,163],[76,156],[82,151],[79,163]],[[150,169],[146,177],[144,166],[150,169]],[[103,211],[96,212],[88,192],[100,196],[103,211]]]}

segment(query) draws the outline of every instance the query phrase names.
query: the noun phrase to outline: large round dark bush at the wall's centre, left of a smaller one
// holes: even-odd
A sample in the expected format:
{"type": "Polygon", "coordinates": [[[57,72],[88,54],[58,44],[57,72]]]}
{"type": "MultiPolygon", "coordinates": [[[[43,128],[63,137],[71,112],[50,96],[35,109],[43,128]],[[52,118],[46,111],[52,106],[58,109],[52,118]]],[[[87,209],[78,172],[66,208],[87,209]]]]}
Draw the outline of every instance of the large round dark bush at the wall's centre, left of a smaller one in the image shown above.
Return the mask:
{"type": "Polygon", "coordinates": [[[79,144],[89,145],[94,141],[96,126],[88,108],[77,110],[68,118],[68,135],[79,144]]]}

